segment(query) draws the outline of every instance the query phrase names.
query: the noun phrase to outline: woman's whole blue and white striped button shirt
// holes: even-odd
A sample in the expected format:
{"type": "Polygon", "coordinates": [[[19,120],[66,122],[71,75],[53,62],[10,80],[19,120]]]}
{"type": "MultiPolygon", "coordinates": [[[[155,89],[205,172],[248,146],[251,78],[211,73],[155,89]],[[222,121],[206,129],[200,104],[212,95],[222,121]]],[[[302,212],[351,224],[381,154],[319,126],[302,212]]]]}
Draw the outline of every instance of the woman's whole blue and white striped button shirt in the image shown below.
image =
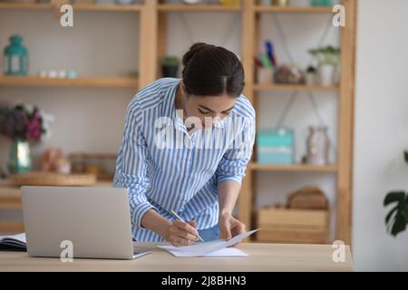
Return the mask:
{"type": "Polygon", "coordinates": [[[149,209],[174,220],[170,210],[198,229],[218,223],[218,183],[241,183],[255,140],[255,111],[240,95],[228,117],[212,129],[189,134],[175,108],[180,79],[163,78],[131,100],[116,161],[113,187],[129,191],[132,234],[163,241],[141,226],[149,209]]]}

